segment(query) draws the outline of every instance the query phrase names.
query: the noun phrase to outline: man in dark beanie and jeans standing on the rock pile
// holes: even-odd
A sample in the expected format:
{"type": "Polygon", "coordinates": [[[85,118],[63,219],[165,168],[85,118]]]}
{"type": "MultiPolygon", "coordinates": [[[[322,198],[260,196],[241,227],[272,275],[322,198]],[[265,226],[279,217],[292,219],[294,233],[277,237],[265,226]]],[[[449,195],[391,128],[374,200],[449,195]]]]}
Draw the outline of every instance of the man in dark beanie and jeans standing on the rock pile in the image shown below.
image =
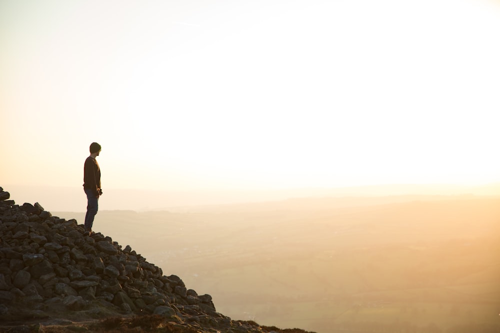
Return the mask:
{"type": "Polygon", "coordinates": [[[90,144],[90,156],[85,160],[83,165],[83,191],[87,196],[87,213],[85,214],[85,233],[90,235],[92,232],[92,224],[97,214],[99,196],[102,194],[100,188],[100,168],[97,160],[99,156],[100,144],[92,142],[90,144]]]}

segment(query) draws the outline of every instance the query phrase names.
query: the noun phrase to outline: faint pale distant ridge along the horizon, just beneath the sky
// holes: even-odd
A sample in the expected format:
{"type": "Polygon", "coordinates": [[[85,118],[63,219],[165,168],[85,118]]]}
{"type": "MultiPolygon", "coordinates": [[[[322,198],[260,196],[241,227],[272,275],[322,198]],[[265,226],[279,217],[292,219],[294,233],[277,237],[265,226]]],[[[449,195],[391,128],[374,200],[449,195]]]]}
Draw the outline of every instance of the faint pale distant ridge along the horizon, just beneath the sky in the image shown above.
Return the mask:
{"type": "MultiPolygon", "coordinates": [[[[7,186],[3,184],[5,188],[7,186]]],[[[23,202],[43,199],[50,211],[83,212],[86,198],[81,185],[74,187],[8,185],[10,194],[23,202]]],[[[104,188],[101,210],[173,210],[202,205],[247,204],[294,198],[418,196],[500,196],[500,184],[459,186],[450,184],[373,185],[343,188],[297,188],[287,190],[153,191],[104,188]]]]}

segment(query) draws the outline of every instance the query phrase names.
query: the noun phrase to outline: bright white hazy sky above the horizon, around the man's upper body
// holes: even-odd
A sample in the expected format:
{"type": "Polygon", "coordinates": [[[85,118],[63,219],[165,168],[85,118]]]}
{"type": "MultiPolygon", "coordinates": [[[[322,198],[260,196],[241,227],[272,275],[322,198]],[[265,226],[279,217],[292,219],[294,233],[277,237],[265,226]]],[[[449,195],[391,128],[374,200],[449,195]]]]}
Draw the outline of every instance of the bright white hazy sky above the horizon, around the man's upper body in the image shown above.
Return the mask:
{"type": "MultiPolygon", "coordinates": [[[[0,1],[0,186],[500,181],[500,3],[0,1]]],[[[8,190],[8,189],[7,189],[8,190]]]]}

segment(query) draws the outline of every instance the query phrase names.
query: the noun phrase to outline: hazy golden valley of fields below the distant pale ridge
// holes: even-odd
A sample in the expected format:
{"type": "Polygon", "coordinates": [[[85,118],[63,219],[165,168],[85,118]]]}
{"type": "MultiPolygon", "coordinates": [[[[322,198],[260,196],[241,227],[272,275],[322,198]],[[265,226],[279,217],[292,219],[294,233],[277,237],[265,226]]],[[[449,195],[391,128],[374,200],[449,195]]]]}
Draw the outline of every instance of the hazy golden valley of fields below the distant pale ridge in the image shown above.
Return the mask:
{"type": "MultiPolygon", "coordinates": [[[[83,213],[52,212],[83,223],[83,213]]],[[[103,211],[111,236],[261,325],[336,332],[498,332],[500,198],[306,198],[103,211]]]]}

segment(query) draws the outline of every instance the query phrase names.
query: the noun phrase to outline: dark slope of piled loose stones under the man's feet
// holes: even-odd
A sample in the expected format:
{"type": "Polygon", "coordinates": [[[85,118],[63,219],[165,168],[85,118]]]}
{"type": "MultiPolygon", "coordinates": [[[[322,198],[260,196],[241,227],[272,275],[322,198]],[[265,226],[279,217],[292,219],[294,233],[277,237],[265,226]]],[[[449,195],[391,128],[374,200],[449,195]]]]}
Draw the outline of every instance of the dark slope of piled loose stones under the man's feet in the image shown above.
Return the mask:
{"type": "Polygon", "coordinates": [[[0,332],[304,332],[234,321],[175,276],[0,187],[0,332]]]}

